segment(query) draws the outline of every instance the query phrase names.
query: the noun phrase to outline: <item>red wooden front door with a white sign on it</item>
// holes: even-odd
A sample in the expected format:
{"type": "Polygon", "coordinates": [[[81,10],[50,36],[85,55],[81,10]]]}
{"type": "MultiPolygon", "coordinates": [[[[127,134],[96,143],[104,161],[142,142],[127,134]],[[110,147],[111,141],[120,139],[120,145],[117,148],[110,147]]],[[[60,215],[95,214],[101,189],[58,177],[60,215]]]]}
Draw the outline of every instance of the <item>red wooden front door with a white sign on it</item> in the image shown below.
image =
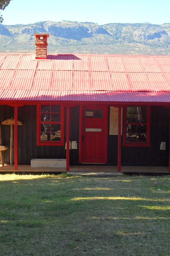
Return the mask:
{"type": "Polygon", "coordinates": [[[82,109],[82,163],[107,162],[106,107],[84,106],[82,109]]]}

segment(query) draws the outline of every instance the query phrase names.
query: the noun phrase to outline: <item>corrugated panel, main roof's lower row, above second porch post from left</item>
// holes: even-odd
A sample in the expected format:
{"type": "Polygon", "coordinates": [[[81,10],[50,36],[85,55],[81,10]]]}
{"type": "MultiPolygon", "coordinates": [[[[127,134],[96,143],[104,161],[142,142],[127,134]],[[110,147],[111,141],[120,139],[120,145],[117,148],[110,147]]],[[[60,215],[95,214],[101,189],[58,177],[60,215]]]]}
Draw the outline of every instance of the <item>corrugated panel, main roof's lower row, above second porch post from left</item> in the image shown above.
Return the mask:
{"type": "Polygon", "coordinates": [[[73,71],[53,71],[50,90],[73,90],[73,71]]]}

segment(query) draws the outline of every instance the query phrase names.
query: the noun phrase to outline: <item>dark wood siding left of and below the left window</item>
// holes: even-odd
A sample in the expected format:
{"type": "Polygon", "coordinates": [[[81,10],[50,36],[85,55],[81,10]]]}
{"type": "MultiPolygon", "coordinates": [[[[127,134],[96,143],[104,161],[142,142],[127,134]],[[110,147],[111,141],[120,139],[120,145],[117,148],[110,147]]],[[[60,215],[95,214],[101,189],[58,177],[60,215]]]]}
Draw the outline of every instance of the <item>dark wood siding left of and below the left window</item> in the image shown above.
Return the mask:
{"type": "Polygon", "coordinates": [[[36,145],[36,106],[19,107],[18,119],[23,124],[18,134],[18,164],[30,164],[32,158],[66,158],[64,146],[36,145]]]}

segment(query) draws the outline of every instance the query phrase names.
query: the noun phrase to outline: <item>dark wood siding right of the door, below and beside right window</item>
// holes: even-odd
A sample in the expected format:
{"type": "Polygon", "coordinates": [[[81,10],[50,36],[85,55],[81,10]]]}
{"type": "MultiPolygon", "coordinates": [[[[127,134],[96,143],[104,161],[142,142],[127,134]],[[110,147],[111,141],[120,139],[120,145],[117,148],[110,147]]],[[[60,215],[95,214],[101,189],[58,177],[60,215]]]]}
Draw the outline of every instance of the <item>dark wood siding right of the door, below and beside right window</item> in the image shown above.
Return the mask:
{"type": "MultiPolygon", "coordinates": [[[[108,163],[117,165],[117,136],[108,135],[108,163]]],[[[151,107],[151,146],[122,146],[121,164],[125,166],[168,166],[169,164],[169,109],[151,107]],[[166,150],[160,143],[166,142],[166,150]]]]}

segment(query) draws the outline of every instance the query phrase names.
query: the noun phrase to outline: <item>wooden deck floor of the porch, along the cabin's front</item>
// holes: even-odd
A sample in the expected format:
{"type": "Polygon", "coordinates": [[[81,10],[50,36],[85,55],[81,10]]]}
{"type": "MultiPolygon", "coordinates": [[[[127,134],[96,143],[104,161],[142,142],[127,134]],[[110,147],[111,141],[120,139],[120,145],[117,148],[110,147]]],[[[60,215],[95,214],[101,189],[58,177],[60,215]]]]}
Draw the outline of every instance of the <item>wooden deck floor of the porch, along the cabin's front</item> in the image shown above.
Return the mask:
{"type": "MultiPolygon", "coordinates": [[[[61,173],[66,172],[66,168],[38,168],[30,165],[18,165],[18,170],[14,171],[14,166],[0,165],[0,172],[6,173],[61,173]]],[[[70,172],[118,172],[117,166],[70,166],[70,172]]],[[[138,172],[138,173],[169,173],[168,166],[122,166],[121,172],[138,172]]]]}

